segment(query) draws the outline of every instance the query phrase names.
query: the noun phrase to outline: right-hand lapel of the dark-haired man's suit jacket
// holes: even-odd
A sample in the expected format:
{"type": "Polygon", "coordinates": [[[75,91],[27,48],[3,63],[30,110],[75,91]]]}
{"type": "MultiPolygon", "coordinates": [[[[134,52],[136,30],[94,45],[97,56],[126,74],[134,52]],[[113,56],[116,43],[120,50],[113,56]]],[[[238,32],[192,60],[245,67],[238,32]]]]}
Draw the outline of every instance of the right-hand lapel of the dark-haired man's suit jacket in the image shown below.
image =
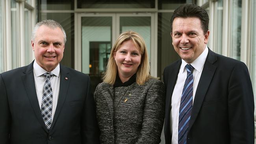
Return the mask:
{"type": "Polygon", "coordinates": [[[211,79],[213,78],[213,75],[215,73],[216,70],[216,66],[213,65],[213,63],[215,63],[215,61],[217,61],[217,57],[216,54],[214,52],[212,52],[209,48],[208,48],[209,52],[206,58],[206,61],[204,63],[204,68],[197,86],[197,91],[195,94],[195,100],[193,103],[193,108],[192,108],[192,114],[191,114],[191,118],[189,120],[189,128],[188,131],[191,129],[191,127],[193,126],[197,115],[200,111],[200,108],[202,106],[202,102],[204,101],[204,97],[206,96],[206,92],[208,90],[208,87],[211,83],[211,79]]]}

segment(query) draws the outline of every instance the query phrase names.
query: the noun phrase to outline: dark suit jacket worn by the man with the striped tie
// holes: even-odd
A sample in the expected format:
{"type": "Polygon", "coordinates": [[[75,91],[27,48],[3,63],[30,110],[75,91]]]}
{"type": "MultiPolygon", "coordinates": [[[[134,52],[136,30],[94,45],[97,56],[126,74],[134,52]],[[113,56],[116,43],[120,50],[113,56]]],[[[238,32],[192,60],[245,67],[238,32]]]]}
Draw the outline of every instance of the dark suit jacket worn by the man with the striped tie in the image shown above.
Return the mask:
{"type": "MultiPolygon", "coordinates": [[[[165,143],[171,144],[171,96],[181,60],[164,70],[165,143]]],[[[187,144],[254,144],[254,98],[247,66],[209,49],[200,77],[187,144]]]]}

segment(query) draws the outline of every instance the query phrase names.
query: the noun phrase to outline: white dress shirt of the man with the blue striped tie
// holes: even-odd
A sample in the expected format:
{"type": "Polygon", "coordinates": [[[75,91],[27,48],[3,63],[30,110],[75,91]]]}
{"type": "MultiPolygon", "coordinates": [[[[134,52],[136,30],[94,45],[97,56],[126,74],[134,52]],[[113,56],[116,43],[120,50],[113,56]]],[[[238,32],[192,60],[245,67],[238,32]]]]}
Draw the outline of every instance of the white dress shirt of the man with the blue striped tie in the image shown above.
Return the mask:
{"type": "MultiPolygon", "coordinates": [[[[202,54],[199,55],[199,57],[197,57],[197,59],[195,59],[195,61],[193,61],[193,63],[191,63],[191,65],[195,68],[193,70],[193,102],[195,99],[195,93],[197,90],[197,85],[199,82],[199,79],[201,77],[202,74],[202,70],[204,67],[204,63],[206,60],[208,54],[208,48],[206,46],[206,48],[204,49],[204,51],[202,52],[202,54]]],[[[180,110],[180,98],[182,95],[182,90],[184,87],[184,83],[185,80],[187,78],[187,70],[185,68],[185,66],[188,63],[186,63],[183,59],[182,59],[182,64],[180,66],[180,71],[178,74],[178,78],[173,90],[173,95],[172,95],[172,100],[171,100],[171,132],[172,132],[172,144],[178,144],[178,121],[179,121],[179,110],[180,110]]]]}

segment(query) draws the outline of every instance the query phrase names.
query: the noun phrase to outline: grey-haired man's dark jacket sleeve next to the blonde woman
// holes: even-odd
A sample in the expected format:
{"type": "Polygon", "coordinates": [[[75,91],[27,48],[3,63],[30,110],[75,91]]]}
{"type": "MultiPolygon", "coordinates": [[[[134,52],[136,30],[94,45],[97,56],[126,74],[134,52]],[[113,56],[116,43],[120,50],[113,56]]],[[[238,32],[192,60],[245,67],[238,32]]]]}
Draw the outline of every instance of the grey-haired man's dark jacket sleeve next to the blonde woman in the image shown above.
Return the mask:
{"type": "Polygon", "coordinates": [[[96,120],[95,102],[91,93],[91,81],[87,76],[87,95],[82,116],[82,143],[100,144],[99,129],[96,120]]]}

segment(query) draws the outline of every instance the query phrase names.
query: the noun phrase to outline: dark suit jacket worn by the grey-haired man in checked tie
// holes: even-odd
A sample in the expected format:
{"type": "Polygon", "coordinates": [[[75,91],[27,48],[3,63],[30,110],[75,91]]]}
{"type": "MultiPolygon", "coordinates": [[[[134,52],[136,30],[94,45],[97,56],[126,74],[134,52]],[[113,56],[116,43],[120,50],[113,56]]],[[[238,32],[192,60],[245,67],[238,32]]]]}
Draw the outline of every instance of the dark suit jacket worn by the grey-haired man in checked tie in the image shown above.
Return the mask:
{"type": "Polygon", "coordinates": [[[33,62],[0,74],[0,144],[97,144],[89,76],[60,65],[60,87],[50,132],[37,100],[33,62]]]}

